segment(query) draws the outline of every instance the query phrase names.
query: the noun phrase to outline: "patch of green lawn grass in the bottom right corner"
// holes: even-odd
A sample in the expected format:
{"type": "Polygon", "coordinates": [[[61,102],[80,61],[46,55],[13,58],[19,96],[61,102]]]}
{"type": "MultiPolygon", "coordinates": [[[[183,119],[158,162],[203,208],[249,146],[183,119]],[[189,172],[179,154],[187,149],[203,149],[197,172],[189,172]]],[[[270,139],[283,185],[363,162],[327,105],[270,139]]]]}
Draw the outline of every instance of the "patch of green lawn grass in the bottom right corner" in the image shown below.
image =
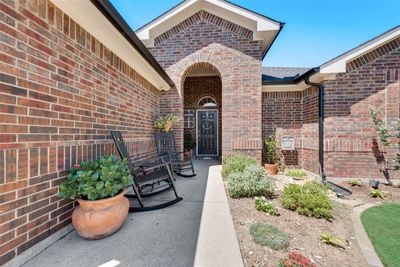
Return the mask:
{"type": "Polygon", "coordinates": [[[382,263],[400,266],[400,205],[369,208],[361,214],[361,221],[382,263]]]}

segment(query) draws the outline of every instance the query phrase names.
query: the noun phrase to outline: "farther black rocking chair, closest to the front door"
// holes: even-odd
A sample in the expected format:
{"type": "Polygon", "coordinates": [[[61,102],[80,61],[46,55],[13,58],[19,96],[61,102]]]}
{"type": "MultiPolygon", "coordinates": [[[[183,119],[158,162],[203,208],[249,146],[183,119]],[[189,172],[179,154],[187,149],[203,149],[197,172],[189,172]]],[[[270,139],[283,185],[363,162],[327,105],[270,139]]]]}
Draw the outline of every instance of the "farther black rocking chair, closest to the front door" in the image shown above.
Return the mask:
{"type": "Polygon", "coordinates": [[[178,152],[175,136],[171,132],[155,133],[157,153],[160,159],[168,160],[172,164],[172,170],[182,177],[196,176],[189,151],[178,152]]]}

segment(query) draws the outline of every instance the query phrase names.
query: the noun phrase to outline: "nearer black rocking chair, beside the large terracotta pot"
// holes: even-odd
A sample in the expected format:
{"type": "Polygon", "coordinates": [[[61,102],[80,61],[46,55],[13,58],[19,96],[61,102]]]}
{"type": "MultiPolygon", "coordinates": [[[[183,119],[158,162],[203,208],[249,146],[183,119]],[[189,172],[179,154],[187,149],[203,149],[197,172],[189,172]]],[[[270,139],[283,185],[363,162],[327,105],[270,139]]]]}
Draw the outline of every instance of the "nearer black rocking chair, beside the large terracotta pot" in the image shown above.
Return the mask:
{"type": "Polygon", "coordinates": [[[160,159],[159,162],[144,163],[141,164],[139,168],[135,169],[134,160],[128,153],[121,132],[113,131],[111,132],[111,136],[114,139],[115,146],[117,147],[121,158],[128,159],[129,170],[133,176],[134,183],[132,188],[134,194],[126,194],[125,196],[129,199],[136,199],[139,202],[139,207],[131,206],[129,208],[130,212],[161,209],[183,200],[183,198],[179,197],[176,192],[173,181],[174,174],[169,161],[160,159]],[[175,199],[162,204],[145,207],[143,203],[144,198],[153,197],[170,190],[174,191],[175,199]]]}

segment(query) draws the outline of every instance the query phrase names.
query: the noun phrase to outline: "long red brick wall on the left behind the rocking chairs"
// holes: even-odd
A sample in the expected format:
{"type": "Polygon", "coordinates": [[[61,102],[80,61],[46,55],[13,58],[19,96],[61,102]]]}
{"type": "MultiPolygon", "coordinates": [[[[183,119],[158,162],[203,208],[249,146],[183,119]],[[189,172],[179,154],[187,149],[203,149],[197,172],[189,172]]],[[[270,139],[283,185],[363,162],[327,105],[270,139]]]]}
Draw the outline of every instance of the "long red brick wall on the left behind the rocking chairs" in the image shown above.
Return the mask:
{"type": "Polygon", "coordinates": [[[70,223],[58,185],[72,164],[115,153],[110,130],[154,155],[160,93],[50,2],[0,7],[1,265],[70,223]]]}

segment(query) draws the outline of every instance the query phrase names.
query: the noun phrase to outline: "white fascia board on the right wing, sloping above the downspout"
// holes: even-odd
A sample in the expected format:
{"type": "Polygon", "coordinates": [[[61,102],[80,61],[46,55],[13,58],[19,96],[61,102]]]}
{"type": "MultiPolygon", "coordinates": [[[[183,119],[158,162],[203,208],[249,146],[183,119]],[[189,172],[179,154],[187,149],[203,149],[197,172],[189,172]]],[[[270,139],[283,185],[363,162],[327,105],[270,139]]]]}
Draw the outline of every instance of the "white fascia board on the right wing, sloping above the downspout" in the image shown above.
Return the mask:
{"type": "Polygon", "coordinates": [[[400,26],[393,30],[378,36],[346,53],[334,58],[320,66],[321,73],[343,73],[346,72],[348,62],[370,52],[371,50],[392,41],[400,36],[400,26]]]}

